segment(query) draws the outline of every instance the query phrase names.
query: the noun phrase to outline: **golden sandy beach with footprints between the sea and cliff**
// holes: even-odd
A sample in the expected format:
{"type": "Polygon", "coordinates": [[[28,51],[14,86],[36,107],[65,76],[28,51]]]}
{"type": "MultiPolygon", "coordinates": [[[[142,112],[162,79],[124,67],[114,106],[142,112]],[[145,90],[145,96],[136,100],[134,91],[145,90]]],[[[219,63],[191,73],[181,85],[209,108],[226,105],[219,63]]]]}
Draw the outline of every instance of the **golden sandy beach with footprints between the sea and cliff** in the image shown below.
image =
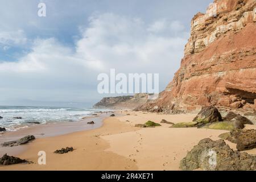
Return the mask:
{"type": "MultiPolygon", "coordinates": [[[[117,117],[105,118],[97,129],[37,138],[24,145],[23,150],[15,155],[34,164],[1,166],[0,170],[180,170],[180,160],[201,139],[217,140],[220,139],[218,135],[227,132],[174,129],[162,123],[162,126],[154,128],[134,127],[148,120],[156,123],[162,119],[174,123],[190,122],[196,114],[167,115],[134,111],[123,111],[122,114],[118,111],[115,114],[117,117]],[[62,147],[71,146],[75,150],[68,154],[53,153],[62,147]],[[37,164],[39,151],[46,151],[46,165],[37,164]]],[[[255,126],[251,127],[255,129],[255,126]]],[[[236,144],[226,143],[236,149],[236,144]]],[[[256,149],[246,152],[256,154],[256,149]]]]}

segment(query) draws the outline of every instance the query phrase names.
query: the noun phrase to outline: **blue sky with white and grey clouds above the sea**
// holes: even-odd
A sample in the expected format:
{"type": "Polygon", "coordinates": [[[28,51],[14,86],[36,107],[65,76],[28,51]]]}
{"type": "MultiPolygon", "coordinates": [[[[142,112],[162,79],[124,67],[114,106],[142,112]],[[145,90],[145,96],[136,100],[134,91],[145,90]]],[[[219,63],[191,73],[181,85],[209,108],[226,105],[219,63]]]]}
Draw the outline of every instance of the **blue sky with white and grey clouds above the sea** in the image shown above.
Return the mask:
{"type": "Polygon", "coordinates": [[[0,0],[0,105],[90,105],[97,76],[172,80],[190,23],[213,0],[0,0]],[[46,17],[38,4],[46,4],[46,17]]]}

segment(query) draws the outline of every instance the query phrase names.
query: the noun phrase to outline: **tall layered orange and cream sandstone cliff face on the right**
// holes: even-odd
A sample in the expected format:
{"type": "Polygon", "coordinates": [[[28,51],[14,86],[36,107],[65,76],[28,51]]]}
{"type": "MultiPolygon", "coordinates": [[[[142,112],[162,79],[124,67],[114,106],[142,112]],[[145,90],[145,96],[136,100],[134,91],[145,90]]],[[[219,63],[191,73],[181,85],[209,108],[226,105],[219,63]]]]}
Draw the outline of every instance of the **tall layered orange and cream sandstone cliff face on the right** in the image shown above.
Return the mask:
{"type": "Polygon", "coordinates": [[[215,0],[191,22],[180,69],[158,100],[140,110],[188,112],[256,106],[256,1],[215,0]]]}

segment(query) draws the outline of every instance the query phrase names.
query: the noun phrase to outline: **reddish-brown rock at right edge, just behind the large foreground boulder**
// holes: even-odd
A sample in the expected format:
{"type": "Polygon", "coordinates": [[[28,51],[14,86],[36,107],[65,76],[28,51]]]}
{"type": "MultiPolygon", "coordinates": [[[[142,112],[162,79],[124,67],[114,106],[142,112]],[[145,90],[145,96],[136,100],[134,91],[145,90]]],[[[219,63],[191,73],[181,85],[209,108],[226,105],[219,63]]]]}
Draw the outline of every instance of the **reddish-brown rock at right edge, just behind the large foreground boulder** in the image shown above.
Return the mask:
{"type": "Polygon", "coordinates": [[[238,151],[256,148],[256,130],[233,130],[219,137],[237,143],[238,151]]]}

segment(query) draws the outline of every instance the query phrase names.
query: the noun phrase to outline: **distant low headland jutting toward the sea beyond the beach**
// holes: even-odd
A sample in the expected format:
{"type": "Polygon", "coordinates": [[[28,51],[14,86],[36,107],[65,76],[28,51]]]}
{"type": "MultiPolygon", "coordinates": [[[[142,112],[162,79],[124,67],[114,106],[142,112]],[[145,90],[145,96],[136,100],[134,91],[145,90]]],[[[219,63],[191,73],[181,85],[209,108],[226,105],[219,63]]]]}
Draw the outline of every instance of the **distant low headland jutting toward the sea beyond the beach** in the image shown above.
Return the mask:
{"type": "Polygon", "coordinates": [[[135,109],[145,104],[150,97],[149,94],[135,94],[134,96],[105,97],[95,104],[94,108],[110,108],[110,109],[135,109]]]}

